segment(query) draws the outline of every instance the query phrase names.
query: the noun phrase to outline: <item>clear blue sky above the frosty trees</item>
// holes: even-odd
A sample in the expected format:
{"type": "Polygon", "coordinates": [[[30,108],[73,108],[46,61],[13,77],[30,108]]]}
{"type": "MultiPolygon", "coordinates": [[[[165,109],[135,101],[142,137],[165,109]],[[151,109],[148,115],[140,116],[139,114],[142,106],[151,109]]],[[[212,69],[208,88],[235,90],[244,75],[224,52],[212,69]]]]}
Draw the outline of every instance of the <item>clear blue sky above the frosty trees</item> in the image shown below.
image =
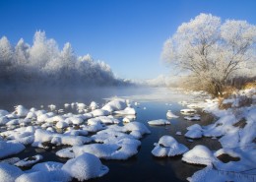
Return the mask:
{"type": "Polygon", "coordinates": [[[171,73],[160,63],[162,43],[200,13],[256,24],[256,0],[0,0],[0,37],[32,44],[45,30],[59,47],[90,53],[121,78],[171,73]]]}

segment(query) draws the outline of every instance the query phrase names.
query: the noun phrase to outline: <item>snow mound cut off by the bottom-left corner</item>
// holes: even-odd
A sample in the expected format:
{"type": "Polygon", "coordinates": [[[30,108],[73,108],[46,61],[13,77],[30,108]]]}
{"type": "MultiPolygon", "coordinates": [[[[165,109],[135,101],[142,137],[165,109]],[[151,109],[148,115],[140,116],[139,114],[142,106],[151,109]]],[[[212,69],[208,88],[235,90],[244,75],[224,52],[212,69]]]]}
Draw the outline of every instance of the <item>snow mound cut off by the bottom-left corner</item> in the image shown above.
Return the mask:
{"type": "Polygon", "coordinates": [[[15,182],[16,178],[23,174],[23,171],[14,165],[0,162],[0,181],[15,182]]]}

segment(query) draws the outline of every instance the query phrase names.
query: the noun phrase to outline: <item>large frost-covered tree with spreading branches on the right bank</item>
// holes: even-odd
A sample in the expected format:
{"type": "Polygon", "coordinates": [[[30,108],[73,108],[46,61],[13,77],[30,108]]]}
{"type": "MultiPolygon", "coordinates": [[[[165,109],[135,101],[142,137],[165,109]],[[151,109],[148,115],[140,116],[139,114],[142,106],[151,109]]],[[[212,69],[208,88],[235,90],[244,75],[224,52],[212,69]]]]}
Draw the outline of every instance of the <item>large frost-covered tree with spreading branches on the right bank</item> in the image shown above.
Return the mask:
{"type": "Polygon", "coordinates": [[[219,17],[200,14],[164,42],[161,56],[218,95],[237,70],[255,62],[255,45],[256,26],[230,20],[222,24],[219,17]]]}

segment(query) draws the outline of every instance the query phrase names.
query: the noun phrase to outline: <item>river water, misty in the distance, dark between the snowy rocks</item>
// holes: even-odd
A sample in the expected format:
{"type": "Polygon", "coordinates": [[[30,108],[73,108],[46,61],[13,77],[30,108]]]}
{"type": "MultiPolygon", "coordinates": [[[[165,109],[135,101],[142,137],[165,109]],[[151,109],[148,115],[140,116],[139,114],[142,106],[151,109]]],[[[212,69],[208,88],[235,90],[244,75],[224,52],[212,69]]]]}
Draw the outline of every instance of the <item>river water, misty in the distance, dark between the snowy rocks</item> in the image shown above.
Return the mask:
{"type": "MultiPolygon", "coordinates": [[[[179,113],[180,109],[186,108],[178,104],[178,101],[191,100],[193,96],[185,95],[180,91],[167,89],[127,89],[127,88],[100,88],[95,90],[83,91],[10,91],[1,94],[0,109],[11,111],[16,104],[23,104],[26,107],[39,108],[40,105],[56,104],[58,108],[63,108],[63,104],[68,102],[84,102],[90,104],[92,100],[98,103],[104,103],[107,97],[123,96],[128,99],[138,101],[136,120],[144,123],[151,130],[152,134],[145,136],[142,141],[142,146],[139,152],[128,160],[101,160],[103,164],[109,167],[109,172],[101,178],[92,179],[92,182],[175,182],[186,181],[186,178],[191,176],[195,171],[202,168],[187,164],[181,161],[181,156],[158,158],[152,155],[154,143],[158,143],[163,135],[174,137],[179,143],[184,144],[189,149],[202,144],[210,150],[216,151],[220,149],[220,144],[217,140],[203,138],[195,140],[193,143],[188,142],[183,136],[186,133],[186,128],[195,123],[200,125],[208,125],[210,119],[202,121],[186,121],[179,113]],[[166,111],[171,110],[180,117],[169,120],[170,125],[167,126],[149,126],[149,120],[166,119],[166,111]],[[176,136],[175,133],[180,131],[182,136],[176,136]]],[[[121,119],[121,118],[120,118],[121,119]]],[[[62,147],[63,148],[63,147],[62,147]]],[[[27,148],[24,152],[18,154],[24,158],[35,153],[43,155],[42,161],[55,160],[65,162],[65,158],[60,158],[55,155],[56,151],[45,151],[42,149],[27,148]]],[[[76,181],[76,180],[73,180],[76,181]]]]}

